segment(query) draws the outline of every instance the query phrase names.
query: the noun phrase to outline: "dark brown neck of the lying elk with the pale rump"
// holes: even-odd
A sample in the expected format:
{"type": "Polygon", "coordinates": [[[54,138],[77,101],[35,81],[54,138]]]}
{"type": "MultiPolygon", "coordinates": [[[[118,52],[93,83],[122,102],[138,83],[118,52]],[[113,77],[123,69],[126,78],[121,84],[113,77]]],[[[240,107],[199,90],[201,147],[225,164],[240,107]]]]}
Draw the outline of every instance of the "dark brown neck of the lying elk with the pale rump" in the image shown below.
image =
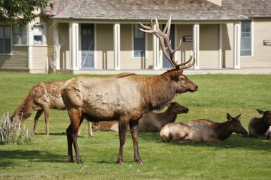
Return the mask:
{"type": "Polygon", "coordinates": [[[232,130],[230,129],[230,122],[215,122],[213,126],[213,130],[216,134],[218,134],[218,139],[227,139],[232,134],[232,130]]]}

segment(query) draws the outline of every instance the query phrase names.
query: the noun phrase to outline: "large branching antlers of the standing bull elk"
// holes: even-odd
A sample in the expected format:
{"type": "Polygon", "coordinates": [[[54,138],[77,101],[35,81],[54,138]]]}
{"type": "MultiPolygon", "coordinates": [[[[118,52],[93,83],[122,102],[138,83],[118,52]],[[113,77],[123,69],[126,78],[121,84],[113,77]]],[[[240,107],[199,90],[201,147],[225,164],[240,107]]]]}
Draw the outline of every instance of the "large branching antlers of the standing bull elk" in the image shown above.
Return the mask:
{"type": "Polygon", "coordinates": [[[176,61],[174,60],[174,57],[173,57],[174,53],[176,51],[178,51],[178,49],[180,48],[180,44],[182,43],[182,40],[180,40],[180,43],[177,48],[175,48],[175,49],[171,48],[171,45],[170,45],[170,43],[171,43],[171,41],[170,41],[170,23],[171,23],[171,14],[170,14],[170,18],[168,19],[168,22],[165,24],[165,28],[163,29],[163,31],[160,31],[159,23],[158,23],[158,20],[155,16],[156,26],[153,26],[153,20],[150,19],[150,26],[145,26],[142,23],[139,23],[140,26],[145,28],[145,29],[142,29],[142,28],[139,28],[139,29],[141,31],[144,31],[145,33],[153,33],[155,36],[157,36],[159,38],[161,48],[162,48],[162,51],[165,55],[165,58],[167,58],[170,61],[171,65],[173,65],[173,68],[175,68],[177,70],[190,68],[195,64],[195,57],[192,53],[190,53],[190,59],[185,61],[185,63],[177,64],[176,61]],[[164,46],[165,44],[166,44],[167,48],[164,46]],[[169,54],[167,52],[167,49],[169,51],[169,54]],[[191,60],[193,60],[193,61],[191,61],[191,60]]]}

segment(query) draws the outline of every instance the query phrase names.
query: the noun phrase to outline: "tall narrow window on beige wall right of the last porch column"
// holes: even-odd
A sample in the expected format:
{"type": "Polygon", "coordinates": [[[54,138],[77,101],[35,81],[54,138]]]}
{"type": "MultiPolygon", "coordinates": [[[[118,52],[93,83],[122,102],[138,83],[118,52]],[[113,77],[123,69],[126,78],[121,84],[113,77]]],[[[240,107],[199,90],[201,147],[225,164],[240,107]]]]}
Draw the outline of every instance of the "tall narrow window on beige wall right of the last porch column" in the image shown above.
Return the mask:
{"type": "Polygon", "coordinates": [[[252,27],[251,21],[241,23],[241,52],[240,55],[252,55],[252,27]]]}

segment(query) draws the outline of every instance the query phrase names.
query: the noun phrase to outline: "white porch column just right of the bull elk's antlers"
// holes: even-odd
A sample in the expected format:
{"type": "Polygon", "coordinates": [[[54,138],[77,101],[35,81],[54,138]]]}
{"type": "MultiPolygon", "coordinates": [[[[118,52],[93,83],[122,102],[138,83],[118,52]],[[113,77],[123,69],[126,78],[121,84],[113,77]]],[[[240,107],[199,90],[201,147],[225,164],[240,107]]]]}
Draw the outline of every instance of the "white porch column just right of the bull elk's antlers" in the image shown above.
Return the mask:
{"type": "Polygon", "coordinates": [[[200,69],[200,24],[195,23],[193,26],[193,46],[195,54],[195,70],[200,69]]]}

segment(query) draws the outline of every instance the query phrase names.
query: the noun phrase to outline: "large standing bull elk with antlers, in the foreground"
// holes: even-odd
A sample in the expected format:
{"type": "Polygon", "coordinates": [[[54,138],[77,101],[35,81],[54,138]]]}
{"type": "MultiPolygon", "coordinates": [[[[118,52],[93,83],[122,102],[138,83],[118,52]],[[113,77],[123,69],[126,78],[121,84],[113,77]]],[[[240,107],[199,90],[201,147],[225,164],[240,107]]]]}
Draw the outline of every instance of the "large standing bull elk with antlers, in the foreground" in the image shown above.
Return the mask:
{"type": "MultiPolygon", "coordinates": [[[[140,77],[138,75],[124,75],[114,78],[91,78],[78,76],[68,80],[61,88],[63,102],[68,110],[71,125],[67,128],[68,162],[73,161],[73,149],[76,152],[76,162],[81,164],[78,152],[77,131],[83,118],[91,122],[118,120],[120,147],[117,163],[123,164],[123,145],[126,142],[126,130],[129,125],[133,139],[134,160],[138,164],[142,161],[138,153],[138,120],[152,110],[163,108],[173,100],[175,95],[183,92],[195,92],[198,86],[183,75],[183,69],[190,68],[195,58],[177,64],[173,59],[176,50],[170,47],[170,21],[165,29],[160,31],[156,19],[156,28],[143,26],[148,33],[154,33],[160,39],[163,53],[175,69],[168,70],[162,75],[140,77]],[[164,39],[170,55],[164,47],[164,39]]],[[[180,45],[178,46],[180,47],[180,45]]]]}

